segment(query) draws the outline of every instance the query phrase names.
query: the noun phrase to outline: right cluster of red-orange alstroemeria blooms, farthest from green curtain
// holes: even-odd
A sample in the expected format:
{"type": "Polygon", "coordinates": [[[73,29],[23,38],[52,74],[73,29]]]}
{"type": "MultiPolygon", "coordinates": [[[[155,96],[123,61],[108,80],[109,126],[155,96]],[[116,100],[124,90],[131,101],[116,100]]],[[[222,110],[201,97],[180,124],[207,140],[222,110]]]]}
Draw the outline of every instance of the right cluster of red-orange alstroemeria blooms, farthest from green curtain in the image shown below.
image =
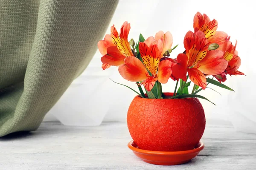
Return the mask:
{"type": "Polygon", "coordinates": [[[184,38],[186,54],[177,56],[177,64],[172,68],[172,74],[177,79],[186,81],[186,74],[196,85],[206,88],[206,76],[213,75],[220,82],[226,80],[226,74],[243,74],[237,71],[241,59],[237,56],[236,45],[230,42],[230,37],[221,31],[216,31],[218,23],[209,20],[206,14],[195,14],[194,32],[188,31],[184,38]],[[208,50],[210,44],[219,45],[217,50],[208,50]]]}

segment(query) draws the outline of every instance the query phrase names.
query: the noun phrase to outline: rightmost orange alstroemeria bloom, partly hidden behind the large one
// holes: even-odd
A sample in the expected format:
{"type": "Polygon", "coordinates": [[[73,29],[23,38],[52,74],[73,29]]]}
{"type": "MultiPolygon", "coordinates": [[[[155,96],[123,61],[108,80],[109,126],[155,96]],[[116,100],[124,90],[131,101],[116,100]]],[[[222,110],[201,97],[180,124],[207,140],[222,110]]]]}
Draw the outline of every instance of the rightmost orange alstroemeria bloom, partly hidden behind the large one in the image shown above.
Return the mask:
{"type": "Polygon", "coordinates": [[[227,74],[230,76],[244,75],[244,73],[238,71],[241,65],[241,59],[238,56],[238,51],[236,51],[236,44],[232,45],[232,42],[230,42],[230,37],[228,37],[226,42],[219,47],[219,49],[224,52],[224,59],[228,61],[226,70],[221,74],[214,75],[214,77],[218,79],[219,82],[225,82],[227,80],[227,74]]]}

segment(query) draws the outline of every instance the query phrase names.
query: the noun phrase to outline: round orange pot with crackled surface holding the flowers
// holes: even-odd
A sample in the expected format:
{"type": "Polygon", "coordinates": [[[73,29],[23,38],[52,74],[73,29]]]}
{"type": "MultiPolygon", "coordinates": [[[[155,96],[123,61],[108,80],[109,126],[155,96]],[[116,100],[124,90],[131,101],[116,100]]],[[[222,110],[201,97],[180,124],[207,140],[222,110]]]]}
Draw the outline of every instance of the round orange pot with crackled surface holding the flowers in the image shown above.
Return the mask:
{"type": "MultiPolygon", "coordinates": [[[[173,93],[164,95],[172,96],[173,93]]],[[[204,133],[204,109],[197,98],[146,99],[136,96],[128,109],[127,124],[140,149],[192,150],[204,133]]]]}

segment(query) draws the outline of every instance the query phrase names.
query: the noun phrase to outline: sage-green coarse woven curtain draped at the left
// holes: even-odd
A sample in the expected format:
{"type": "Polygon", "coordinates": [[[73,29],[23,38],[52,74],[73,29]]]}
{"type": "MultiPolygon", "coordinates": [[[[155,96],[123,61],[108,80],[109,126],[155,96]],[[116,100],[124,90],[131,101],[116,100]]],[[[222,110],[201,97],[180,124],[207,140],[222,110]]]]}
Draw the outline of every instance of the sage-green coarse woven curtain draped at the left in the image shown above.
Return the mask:
{"type": "Polygon", "coordinates": [[[90,62],[117,3],[1,0],[0,136],[38,128],[90,62]]]}

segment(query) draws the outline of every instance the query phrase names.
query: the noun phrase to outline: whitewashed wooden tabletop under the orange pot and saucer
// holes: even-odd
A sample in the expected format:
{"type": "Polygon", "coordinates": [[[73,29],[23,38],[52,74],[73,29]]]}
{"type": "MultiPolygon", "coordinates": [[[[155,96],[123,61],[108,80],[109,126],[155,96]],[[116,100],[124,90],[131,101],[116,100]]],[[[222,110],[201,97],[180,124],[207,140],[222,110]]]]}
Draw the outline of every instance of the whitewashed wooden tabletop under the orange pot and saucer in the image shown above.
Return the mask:
{"type": "Polygon", "coordinates": [[[0,170],[256,170],[256,135],[208,121],[205,148],[187,164],[159,166],[137,158],[125,123],[67,127],[44,122],[31,133],[0,138],[0,170]]]}

